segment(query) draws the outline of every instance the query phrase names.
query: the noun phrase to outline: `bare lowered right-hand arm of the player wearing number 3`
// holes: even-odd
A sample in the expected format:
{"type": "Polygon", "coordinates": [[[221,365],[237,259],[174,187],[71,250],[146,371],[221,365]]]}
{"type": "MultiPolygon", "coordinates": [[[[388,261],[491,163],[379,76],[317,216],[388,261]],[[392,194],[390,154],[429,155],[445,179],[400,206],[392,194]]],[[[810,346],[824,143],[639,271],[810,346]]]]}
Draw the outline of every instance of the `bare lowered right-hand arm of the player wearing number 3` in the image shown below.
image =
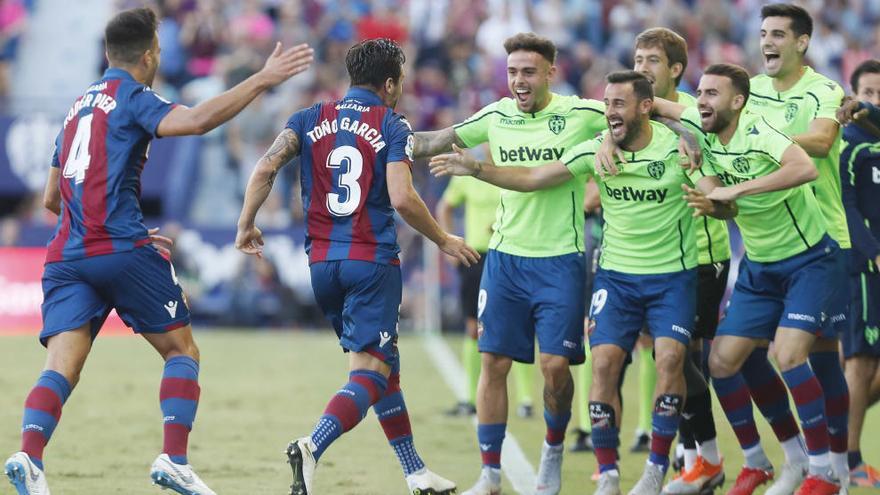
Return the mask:
{"type": "Polygon", "coordinates": [[[444,253],[465,266],[480,259],[480,255],[464,243],[461,237],[451,235],[440,228],[412,183],[412,172],[405,162],[391,162],[385,172],[391,206],[410,227],[430,239],[444,253]]]}

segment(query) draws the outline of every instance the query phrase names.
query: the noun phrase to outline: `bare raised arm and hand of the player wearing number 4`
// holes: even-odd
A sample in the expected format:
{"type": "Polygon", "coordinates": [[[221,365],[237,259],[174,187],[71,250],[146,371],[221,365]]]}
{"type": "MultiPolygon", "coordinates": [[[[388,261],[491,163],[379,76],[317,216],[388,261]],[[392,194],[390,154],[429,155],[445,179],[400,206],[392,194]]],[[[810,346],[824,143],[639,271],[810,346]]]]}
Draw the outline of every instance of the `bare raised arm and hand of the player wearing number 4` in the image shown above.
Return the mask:
{"type": "Polygon", "coordinates": [[[185,136],[204,134],[235,117],[260,93],[277,86],[305,71],[312,63],[312,50],[302,44],[281,50],[281,43],[266,60],[266,65],[256,74],[235,85],[223,94],[189,108],[174,107],[161,122],[156,133],[160,136],[185,136]]]}

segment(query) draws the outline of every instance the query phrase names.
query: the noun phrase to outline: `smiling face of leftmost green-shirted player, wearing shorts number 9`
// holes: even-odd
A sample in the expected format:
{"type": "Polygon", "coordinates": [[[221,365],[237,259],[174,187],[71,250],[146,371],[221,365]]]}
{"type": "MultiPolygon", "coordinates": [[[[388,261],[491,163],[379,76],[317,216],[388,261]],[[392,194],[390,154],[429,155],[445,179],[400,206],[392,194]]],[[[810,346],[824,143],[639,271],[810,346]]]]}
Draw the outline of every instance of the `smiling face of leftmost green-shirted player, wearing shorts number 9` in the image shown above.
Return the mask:
{"type": "Polygon", "coordinates": [[[507,87],[521,112],[537,112],[550,101],[556,67],[538,52],[517,50],[507,56],[507,87]]]}

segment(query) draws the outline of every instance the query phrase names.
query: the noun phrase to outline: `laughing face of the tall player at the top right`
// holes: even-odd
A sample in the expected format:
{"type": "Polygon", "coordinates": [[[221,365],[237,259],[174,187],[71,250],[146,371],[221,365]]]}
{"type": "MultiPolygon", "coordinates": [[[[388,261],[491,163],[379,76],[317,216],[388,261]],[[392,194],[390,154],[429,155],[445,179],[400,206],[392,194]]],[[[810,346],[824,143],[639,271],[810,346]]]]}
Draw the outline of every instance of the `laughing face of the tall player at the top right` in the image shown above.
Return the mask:
{"type": "Polygon", "coordinates": [[[782,78],[800,70],[809,43],[806,34],[795,35],[790,18],[765,18],[761,23],[761,54],[767,75],[782,78]]]}

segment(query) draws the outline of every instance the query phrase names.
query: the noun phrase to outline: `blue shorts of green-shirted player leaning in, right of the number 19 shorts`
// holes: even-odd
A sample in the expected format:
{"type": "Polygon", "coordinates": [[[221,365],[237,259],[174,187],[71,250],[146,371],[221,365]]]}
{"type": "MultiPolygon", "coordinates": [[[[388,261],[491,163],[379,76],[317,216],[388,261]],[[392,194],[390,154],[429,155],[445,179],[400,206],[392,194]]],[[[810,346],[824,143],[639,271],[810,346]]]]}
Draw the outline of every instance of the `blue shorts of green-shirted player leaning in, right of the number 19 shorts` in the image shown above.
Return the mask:
{"type": "Polygon", "coordinates": [[[840,248],[827,235],[789,258],[760,263],[743,257],[718,335],[773,340],[778,327],[836,337],[830,324],[840,248]]]}

